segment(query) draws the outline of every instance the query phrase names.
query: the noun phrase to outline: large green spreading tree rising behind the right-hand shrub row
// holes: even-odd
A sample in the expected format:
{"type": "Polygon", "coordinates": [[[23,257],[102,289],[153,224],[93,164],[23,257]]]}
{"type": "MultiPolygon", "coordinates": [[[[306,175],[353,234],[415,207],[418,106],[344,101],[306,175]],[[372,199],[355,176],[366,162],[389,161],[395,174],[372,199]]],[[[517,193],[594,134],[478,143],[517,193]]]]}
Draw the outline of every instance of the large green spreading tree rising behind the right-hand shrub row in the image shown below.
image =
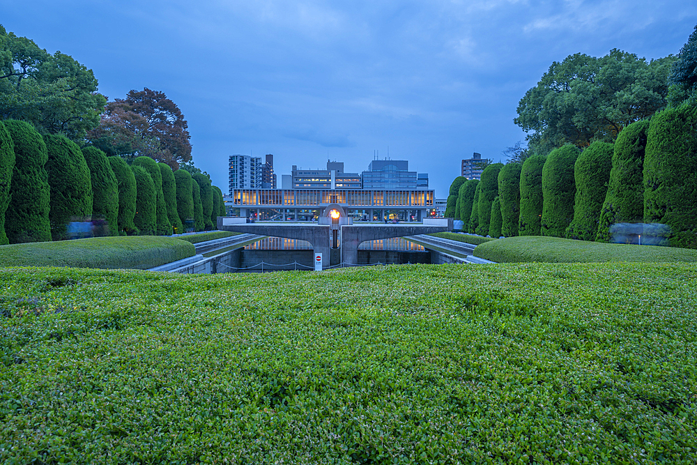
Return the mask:
{"type": "Polygon", "coordinates": [[[646,61],[612,49],[602,58],[569,55],[553,62],[518,105],[514,122],[535,151],[563,144],[613,142],[627,125],[666,107],[673,56],[646,61]]]}

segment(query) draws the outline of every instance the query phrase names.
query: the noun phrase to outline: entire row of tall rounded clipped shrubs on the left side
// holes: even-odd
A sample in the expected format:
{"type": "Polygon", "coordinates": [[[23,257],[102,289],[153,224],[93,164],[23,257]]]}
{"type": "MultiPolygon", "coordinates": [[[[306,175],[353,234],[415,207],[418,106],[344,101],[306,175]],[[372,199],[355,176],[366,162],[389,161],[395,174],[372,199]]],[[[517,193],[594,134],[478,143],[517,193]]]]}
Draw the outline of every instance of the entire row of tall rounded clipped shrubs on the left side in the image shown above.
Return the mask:
{"type": "Polygon", "coordinates": [[[202,174],[138,157],[128,165],[24,121],[0,122],[0,244],[89,235],[164,235],[213,229],[222,191],[202,174]]]}

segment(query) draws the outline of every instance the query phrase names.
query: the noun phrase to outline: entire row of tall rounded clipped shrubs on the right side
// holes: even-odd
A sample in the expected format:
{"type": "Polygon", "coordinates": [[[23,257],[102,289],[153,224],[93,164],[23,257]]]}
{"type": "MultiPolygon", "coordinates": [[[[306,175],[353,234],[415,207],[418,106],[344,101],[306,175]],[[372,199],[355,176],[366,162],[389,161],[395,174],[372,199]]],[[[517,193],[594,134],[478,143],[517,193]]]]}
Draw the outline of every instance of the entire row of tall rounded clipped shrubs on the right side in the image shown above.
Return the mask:
{"type": "Polygon", "coordinates": [[[632,123],[614,144],[489,165],[481,181],[460,176],[449,193],[445,216],[483,236],[608,242],[613,224],[645,222],[667,224],[671,246],[697,248],[697,108],[632,123]]]}

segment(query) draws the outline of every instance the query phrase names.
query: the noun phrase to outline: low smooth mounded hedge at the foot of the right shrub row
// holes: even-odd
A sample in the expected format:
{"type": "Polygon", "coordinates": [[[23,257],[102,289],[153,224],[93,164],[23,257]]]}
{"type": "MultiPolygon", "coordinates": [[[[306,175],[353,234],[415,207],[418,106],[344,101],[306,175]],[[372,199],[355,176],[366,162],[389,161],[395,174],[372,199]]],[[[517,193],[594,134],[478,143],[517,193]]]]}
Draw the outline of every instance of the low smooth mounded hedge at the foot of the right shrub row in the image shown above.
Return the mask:
{"type": "Polygon", "coordinates": [[[475,257],[496,263],[604,263],[638,261],[645,263],[694,262],[697,250],[656,245],[608,244],[542,236],[496,239],[477,245],[475,257]]]}

